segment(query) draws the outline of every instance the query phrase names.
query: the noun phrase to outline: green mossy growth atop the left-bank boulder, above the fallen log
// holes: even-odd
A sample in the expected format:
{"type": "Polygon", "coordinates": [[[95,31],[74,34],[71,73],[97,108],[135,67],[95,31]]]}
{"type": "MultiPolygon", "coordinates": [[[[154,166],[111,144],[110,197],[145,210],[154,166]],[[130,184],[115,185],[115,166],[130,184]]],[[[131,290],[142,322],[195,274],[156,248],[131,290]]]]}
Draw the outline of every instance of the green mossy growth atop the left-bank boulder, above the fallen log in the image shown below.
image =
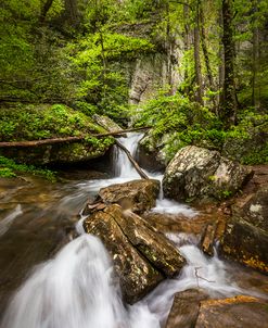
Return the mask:
{"type": "Polygon", "coordinates": [[[38,140],[103,133],[89,116],[63,104],[0,109],[0,141],[38,140]]]}

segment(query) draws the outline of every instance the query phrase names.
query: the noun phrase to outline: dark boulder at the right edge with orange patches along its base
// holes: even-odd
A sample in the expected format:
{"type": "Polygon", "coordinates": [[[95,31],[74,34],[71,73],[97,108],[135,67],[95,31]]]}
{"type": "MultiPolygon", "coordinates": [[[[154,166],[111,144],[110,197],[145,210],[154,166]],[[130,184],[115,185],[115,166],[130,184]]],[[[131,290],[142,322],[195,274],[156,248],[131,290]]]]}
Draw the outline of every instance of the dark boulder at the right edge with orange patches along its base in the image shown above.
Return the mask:
{"type": "Polygon", "coordinates": [[[268,273],[268,186],[239,206],[227,224],[221,251],[247,266],[268,273]]]}

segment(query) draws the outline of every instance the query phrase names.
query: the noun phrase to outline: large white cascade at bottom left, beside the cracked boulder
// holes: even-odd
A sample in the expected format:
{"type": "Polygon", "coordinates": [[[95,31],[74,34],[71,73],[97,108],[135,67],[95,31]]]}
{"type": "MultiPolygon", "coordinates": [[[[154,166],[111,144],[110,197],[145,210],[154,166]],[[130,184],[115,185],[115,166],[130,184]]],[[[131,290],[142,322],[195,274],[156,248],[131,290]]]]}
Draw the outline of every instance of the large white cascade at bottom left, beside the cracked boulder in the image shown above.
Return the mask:
{"type": "Polygon", "coordinates": [[[63,327],[157,328],[154,314],[136,306],[126,310],[112,261],[97,237],[84,234],[39,265],[1,324],[1,328],[63,327]]]}

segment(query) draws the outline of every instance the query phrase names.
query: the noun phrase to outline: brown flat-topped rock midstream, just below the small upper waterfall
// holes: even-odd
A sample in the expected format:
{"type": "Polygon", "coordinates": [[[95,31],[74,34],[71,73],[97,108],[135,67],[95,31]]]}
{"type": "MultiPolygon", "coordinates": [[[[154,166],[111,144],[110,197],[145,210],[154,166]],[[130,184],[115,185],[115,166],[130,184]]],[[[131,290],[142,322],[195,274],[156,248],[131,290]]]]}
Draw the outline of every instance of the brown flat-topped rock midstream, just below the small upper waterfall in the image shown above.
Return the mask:
{"type": "Polygon", "coordinates": [[[159,188],[158,180],[132,180],[102,188],[98,201],[105,204],[117,203],[124,210],[130,209],[132,212],[143,213],[155,206],[159,188]]]}

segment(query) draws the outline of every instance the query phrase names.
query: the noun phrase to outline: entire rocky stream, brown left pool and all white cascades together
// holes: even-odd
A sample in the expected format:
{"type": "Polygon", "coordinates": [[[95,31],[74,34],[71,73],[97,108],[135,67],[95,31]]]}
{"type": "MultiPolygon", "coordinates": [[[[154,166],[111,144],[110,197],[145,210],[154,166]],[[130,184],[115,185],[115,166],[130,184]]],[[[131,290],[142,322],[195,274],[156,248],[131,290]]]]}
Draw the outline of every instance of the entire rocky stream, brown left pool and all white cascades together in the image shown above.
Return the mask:
{"type": "MultiPolygon", "coordinates": [[[[128,134],[120,142],[135,154],[141,137],[128,134]]],[[[212,298],[268,297],[263,288],[268,277],[225,262],[217,252],[213,257],[204,255],[193,235],[167,232],[186,266],[177,278],[126,306],[107,251],[98,238],[84,232],[85,217],[77,215],[100,188],[140,178],[120,150],[114,152],[113,163],[113,178],[104,174],[94,178],[84,171],[71,172],[72,178],[58,184],[31,177],[1,182],[1,328],[164,328],[179,291],[202,288],[212,298]],[[74,226],[79,235],[75,239],[74,226]]],[[[197,214],[162,193],[152,212],[183,214],[189,220],[197,214]]]]}

